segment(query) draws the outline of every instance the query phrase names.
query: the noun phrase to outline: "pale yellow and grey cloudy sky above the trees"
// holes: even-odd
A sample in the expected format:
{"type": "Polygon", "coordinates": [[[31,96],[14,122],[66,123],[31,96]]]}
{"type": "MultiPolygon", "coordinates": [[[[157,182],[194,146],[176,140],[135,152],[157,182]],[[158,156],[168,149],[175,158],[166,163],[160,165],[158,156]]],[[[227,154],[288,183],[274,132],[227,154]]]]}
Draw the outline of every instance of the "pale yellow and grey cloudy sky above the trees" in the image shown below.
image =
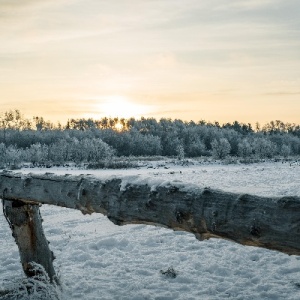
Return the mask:
{"type": "Polygon", "coordinates": [[[299,0],[0,0],[0,112],[300,123],[299,0]]]}

